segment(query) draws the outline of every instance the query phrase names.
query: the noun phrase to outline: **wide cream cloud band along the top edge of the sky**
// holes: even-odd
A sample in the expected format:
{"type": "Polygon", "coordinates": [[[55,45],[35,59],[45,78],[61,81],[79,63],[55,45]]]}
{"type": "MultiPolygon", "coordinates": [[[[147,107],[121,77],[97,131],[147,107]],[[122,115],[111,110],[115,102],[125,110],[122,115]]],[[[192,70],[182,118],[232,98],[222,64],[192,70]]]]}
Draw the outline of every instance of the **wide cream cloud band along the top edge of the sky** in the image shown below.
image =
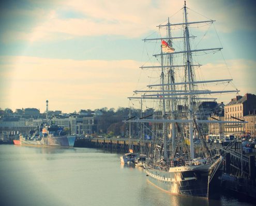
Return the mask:
{"type": "MultiPolygon", "coordinates": [[[[205,14],[206,8],[210,7],[211,9],[208,9],[205,15],[210,19],[217,20],[217,27],[222,32],[254,29],[251,23],[255,21],[255,14],[246,12],[248,8],[239,2],[235,1],[229,4],[226,1],[207,4],[202,4],[202,2],[204,1],[187,2],[188,8],[191,8],[191,10],[188,9],[189,18],[195,21],[207,20],[198,13],[205,14]]],[[[154,30],[156,25],[167,22],[168,16],[171,17],[171,22],[183,20],[182,11],[173,14],[184,6],[184,2],[178,0],[164,0],[159,3],[151,0],[67,0],[46,3],[31,2],[30,4],[33,5],[33,9],[5,10],[5,13],[7,11],[13,13],[17,20],[19,17],[24,18],[24,16],[30,17],[31,20],[23,21],[14,28],[6,29],[2,41],[25,40],[35,42],[102,35],[137,38],[154,30]],[[66,17],[63,16],[65,15],[63,13],[67,11],[71,14],[66,17]],[[29,21],[34,23],[28,26],[26,23],[29,21]]],[[[12,16],[11,14],[8,15],[12,16]]],[[[201,27],[201,29],[206,30],[207,27],[201,27]]]]}

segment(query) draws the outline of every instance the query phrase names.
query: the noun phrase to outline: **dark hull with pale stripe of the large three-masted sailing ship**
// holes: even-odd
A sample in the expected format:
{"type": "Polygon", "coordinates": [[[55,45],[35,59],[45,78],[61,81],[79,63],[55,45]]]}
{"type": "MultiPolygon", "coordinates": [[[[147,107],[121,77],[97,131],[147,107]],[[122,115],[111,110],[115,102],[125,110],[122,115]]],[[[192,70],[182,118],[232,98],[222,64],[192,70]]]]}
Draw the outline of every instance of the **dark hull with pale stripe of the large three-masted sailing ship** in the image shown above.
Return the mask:
{"type": "Polygon", "coordinates": [[[175,167],[172,171],[145,168],[148,181],[161,190],[184,196],[208,198],[208,165],[175,167]]]}

